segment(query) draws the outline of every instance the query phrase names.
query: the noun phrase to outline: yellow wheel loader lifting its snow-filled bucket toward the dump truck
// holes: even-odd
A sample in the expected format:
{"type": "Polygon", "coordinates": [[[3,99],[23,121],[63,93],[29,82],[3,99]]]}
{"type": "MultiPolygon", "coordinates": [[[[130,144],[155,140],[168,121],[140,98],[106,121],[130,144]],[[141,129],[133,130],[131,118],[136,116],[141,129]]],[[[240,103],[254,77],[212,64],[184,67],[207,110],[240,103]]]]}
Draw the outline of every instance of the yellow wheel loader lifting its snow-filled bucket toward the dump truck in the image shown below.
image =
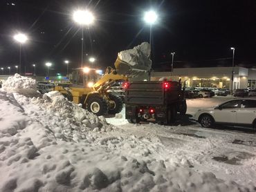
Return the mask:
{"type": "MultiPolygon", "coordinates": [[[[116,69],[107,67],[104,75],[99,77],[97,70],[90,68],[77,68],[73,71],[72,84],[69,86],[55,86],[54,90],[60,91],[68,100],[75,104],[82,104],[95,115],[116,114],[122,111],[122,99],[118,95],[111,94],[107,90],[111,88],[116,81],[127,81],[130,77],[136,77],[142,73],[147,73],[151,68],[151,60],[148,54],[144,54],[145,50],[150,48],[149,44],[143,43],[143,46],[137,46],[127,54],[119,54],[114,66],[116,69]],[[143,48],[143,50],[141,50],[143,48]],[[137,53],[139,58],[134,58],[137,53]],[[122,55],[125,55],[124,59],[122,55]],[[143,58],[141,58],[141,55],[143,58]],[[128,60],[136,63],[129,64],[128,60]],[[149,61],[150,65],[145,65],[145,61],[149,61]],[[93,80],[95,84],[89,84],[93,80]]],[[[122,53],[122,52],[121,52],[122,53]]]]}

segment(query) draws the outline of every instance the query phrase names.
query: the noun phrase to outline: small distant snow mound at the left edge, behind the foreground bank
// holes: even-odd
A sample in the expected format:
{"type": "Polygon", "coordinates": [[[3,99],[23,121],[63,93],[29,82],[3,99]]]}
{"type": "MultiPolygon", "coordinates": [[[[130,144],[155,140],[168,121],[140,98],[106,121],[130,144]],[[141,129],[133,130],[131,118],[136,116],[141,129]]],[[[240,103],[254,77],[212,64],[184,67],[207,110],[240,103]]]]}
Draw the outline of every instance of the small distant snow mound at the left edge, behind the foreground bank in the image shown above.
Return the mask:
{"type": "Polygon", "coordinates": [[[19,90],[19,89],[35,90],[37,88],[37,85],[36,85],[35,79],[23,77],[16,73],[14,77],[8,77],[8,79],[3,82],[2,88],[3,90],[19,90]]]}

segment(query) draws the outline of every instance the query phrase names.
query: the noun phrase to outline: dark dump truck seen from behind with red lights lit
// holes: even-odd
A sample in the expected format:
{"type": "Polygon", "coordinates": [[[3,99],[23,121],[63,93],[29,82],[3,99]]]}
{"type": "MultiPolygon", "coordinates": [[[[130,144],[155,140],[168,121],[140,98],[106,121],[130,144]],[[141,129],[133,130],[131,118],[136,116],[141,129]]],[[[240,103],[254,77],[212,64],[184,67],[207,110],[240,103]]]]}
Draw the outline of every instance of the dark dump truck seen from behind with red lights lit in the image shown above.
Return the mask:
{"type": "Polygon", "coordinates": [[[181,81],[131,81],[125,85],[125,118],[131,124],[172,124],[187,104],[181,81]]]}

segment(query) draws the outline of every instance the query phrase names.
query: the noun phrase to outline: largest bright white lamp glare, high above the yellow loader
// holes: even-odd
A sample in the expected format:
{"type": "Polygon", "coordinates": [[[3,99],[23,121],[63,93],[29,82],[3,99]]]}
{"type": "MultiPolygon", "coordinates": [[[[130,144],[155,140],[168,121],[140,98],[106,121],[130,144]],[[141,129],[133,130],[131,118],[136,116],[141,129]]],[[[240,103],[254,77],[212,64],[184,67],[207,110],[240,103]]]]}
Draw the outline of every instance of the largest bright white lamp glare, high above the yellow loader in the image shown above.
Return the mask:
{"type": "Polygon", "coordinates": [[[87,10],[77,10],[73,13],[73,19],[80,25],[90,25],[94,21],[93,14],[87,10]]]}

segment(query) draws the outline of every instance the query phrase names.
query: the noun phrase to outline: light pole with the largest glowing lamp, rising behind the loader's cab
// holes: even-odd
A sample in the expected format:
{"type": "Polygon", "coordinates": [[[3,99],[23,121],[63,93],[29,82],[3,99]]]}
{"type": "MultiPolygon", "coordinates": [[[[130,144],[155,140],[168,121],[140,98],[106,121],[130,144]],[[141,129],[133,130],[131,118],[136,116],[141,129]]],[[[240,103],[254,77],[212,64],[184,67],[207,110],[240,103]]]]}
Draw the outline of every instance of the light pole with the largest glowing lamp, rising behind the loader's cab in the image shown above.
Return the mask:
{"type": "Polygon", "coordinates": [[[81,45],[81,68],[84,62],[84,26],[89,26],[94,21],[94,16],[88,10],[76,10],[73,13],[75,23],[78,23],[82,28],[82,45],[81,45]]]}

